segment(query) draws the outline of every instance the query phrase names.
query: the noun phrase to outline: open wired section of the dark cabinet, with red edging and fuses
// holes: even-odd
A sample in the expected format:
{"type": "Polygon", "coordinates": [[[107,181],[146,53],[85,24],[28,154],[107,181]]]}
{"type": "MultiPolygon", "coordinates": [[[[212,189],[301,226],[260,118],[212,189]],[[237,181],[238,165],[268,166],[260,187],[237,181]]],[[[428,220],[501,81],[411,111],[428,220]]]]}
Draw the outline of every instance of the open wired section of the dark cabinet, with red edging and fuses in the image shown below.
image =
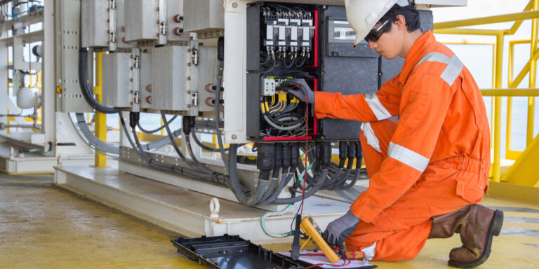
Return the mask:
{"type": "Polygon", "coordinates": [[[247,135],[253,141],[318,134],[312,106],[279,89],[305,78],[319,90],[319,8],[259,2],[247,9],[247,135]]]}

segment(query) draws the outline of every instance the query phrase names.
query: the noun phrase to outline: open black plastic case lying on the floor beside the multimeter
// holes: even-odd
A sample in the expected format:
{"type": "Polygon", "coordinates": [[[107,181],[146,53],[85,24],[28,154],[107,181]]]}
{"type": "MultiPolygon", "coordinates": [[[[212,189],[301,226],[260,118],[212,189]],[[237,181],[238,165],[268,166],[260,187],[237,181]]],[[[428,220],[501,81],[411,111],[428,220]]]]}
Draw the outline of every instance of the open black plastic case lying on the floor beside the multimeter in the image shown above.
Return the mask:
{"type": "Polygon", "coordinates": [[[193,261],[215,269],[302,269],[310,264],[293,261],[239,235],[171,240],[178,252],[193,261]]]}

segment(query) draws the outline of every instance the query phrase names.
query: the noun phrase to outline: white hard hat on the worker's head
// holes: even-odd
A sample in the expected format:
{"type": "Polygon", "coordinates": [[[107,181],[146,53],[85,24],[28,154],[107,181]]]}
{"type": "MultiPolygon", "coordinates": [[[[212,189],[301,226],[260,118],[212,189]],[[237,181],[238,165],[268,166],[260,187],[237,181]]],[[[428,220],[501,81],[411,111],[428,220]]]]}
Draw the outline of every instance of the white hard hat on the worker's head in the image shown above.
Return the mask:
{"type": "Polygon", "coordinates": [[[346,17],[356,32],[354,45],[361,42],[376,22],[395,4],[408,6],[409,2],[408,0],[345,0],[346,17]]]}

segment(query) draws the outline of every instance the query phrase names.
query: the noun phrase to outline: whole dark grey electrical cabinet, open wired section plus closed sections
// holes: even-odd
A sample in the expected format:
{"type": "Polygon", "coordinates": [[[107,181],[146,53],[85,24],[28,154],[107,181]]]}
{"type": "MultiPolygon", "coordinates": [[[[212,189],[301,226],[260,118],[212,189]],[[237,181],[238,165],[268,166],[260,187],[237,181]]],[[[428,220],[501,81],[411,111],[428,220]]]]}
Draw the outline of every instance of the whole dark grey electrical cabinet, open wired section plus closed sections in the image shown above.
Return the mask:
{"type": "MultiPolygon", "coordinates": [[[[432,13],[420,13],[422,29],[432,29],[432,13]]],[[[309,122],[308,135],[317,141],[359,140],[361,122],[317,119],[312,107],[302,102],[296,106],[279,84],[305,78],[315,91],[369,94],[378,91],[388,74],[397,75],[394,70],[404,62],[382,60],[366,41],[354,48],[356,34],[344,6],[258,2],[248,6],[246,25],[246,133],[253,141],[305,139],[305,126],[290,130],[299,121],[309,122]]]]}

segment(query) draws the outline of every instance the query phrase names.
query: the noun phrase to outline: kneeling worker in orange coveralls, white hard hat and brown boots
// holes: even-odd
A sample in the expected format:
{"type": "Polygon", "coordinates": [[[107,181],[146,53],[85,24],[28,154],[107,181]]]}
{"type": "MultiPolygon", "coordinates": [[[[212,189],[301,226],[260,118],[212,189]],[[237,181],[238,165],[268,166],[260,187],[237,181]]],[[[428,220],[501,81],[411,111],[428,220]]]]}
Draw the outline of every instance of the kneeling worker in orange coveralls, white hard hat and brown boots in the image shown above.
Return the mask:
{"type": "Polygon", "coordinates": [[[281,85],[314,104],[319,118],[364,122],[360,139],[370,185],[328,225],[324,238],[335,246],[346,239],[347,250],[374,261],[404,261],[417,256],[427,239],[460,233],[463,246],[451,250],[449,265],[484,263],[503,212],[477,205],[488,187],[491,158],[474,78],[432,32],[420,31],[419,13],[408,1],[345,4],[356,44],[366,36],[380,55],[406,60],[375,94],[313,92],[302,79],[281,85]]]}

